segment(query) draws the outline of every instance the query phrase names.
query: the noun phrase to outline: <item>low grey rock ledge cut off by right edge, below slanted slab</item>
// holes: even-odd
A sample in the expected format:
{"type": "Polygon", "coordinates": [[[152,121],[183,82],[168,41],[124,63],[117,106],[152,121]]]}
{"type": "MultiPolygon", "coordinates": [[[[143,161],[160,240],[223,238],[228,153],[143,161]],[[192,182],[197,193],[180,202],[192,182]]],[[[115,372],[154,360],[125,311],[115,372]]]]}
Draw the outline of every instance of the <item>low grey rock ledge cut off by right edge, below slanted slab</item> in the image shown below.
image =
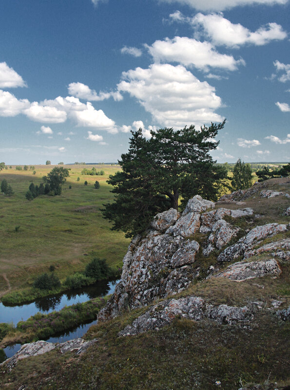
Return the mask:
{"type": "Polygon", "coordinates": [[[244,259],[249,259],[261,253],[269,253],[271,256],[278,257],[284,261],[290,260],[290,238],[270,242],[256,249],[248,249],[244,253],[244,259]]]}

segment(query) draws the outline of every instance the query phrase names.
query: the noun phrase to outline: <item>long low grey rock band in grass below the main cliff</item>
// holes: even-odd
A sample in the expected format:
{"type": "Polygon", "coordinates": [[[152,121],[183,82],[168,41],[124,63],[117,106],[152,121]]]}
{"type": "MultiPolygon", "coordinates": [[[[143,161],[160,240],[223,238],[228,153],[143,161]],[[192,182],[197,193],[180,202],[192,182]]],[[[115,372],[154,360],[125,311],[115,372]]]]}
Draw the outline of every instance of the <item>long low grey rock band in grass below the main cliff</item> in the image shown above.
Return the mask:
{"type": "Polygon", "coordinates": [[[119,332],[119,336],[158,330],[170,324],[175,317],[188,318],[194,321],[210,318],[219,324],[232,324],[249,321],[253,318],[253,314],[251,308],[247,306],[213,306],[206,304],[201,297],[167,299],[158,305],[152,306],[145,314],[136,318],[132,325],[127,325],[119,332]]]}

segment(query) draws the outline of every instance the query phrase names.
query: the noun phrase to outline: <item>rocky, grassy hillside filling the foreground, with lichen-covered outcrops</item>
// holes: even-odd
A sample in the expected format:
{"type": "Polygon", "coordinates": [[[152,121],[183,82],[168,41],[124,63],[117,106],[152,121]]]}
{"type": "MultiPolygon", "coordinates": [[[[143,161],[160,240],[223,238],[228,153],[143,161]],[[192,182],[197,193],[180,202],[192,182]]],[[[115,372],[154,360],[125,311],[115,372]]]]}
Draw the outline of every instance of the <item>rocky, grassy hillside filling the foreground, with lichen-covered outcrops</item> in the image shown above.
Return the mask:
{"type": "Polygon", "coordinates": [[[121,281],[84,337],[90,343],[30,344],[0,367],[0,387],[289,384],[289,194],[289,178],[271,179],[158,214],[129,245],[121,281]]]}

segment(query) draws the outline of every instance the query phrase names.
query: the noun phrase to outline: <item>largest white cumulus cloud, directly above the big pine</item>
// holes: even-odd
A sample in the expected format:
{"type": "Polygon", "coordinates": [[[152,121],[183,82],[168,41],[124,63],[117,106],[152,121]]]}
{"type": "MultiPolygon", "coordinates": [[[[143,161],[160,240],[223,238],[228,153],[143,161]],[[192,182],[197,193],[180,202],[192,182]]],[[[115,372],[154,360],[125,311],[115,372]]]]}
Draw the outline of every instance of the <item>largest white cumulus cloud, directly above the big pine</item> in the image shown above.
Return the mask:
{"type": "Polygon", "coordinates": [[[215,89],[182,65],[153,64],[148,69],[123,72],[122,76],[118,91],[135,97],[161,126],[179,128],[223,120],[214,112],[222,105],[215,89]]]}

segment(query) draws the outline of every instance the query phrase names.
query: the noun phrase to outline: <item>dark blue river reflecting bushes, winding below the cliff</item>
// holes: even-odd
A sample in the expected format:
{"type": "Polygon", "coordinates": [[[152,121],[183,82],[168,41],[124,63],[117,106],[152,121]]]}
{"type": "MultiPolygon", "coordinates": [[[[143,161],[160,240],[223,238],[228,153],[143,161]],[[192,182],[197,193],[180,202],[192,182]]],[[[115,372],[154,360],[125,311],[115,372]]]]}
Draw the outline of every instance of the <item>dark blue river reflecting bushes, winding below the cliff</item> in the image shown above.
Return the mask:
{"type": "MultiPolygon", "coordinates": [[[[78,302],[86,302],[89,299],[113,294],[118,281],[119,280],[101,280],[92,286],[77,290],[70,290],[66,293],[61,293],[53,297],[37,299],[32,303],[21,306],[4,306],[0,302],[0,322],[13,323],[13,325],[16,326],[19,321],[25,321],[30,316],[34,316],[39,312],[48,314],[53,311],[59,311],[64,306],[70,306],[78,302]]],[[[62,343],[72,338],[81,337],[94,323],[96,323],[96,320],[88,324],[80,325],[77,328],[71,329],[63,334],[50,337],[47,341],[62,343]]],[[[4,348],[4,352],[7,357],[11,357],[19,351],[20,347],[21,344],[8,346],[4,348]]]]}

